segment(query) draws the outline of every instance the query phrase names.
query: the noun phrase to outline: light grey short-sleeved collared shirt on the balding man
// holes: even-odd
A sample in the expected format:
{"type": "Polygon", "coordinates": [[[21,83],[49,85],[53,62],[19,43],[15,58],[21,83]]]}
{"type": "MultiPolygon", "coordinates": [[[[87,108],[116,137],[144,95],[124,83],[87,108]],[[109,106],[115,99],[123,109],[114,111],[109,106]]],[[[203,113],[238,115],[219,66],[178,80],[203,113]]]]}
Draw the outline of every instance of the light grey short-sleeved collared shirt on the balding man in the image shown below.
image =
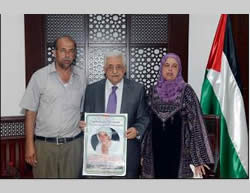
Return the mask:
{"type": "Polygon", "coordinates": [[[37,112],[35,135],[73,137],[80,133],[87,80],[84,71],[72,66],[68,83],[59,77],[55,63],[36,71],[28,84],[20,106],[37,112]]]}

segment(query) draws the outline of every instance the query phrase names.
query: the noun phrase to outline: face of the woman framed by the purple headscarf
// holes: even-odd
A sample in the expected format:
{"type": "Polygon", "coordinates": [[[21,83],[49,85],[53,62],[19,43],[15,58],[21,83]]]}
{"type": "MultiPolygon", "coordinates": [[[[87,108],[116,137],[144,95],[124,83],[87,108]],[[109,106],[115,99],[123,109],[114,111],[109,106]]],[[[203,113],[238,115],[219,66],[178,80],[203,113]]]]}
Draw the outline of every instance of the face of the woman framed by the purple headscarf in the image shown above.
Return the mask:
{"type": "Polygon", "coordinates": [[[162,65],[162,76],[165,80],[174,80],[179,72],[179,65],[174,58],[168,58],[162,65]]]}

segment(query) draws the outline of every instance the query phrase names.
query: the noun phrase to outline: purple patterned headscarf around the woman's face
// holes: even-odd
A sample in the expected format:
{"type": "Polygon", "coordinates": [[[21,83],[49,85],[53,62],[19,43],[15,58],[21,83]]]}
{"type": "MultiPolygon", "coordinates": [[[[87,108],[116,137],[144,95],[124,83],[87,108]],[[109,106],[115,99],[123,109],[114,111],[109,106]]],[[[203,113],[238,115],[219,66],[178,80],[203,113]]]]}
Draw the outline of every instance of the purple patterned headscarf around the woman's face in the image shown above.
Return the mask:
{"type": "Polygon", "coordinates": [[[156,91],[159,97],[165,102],[173,102],[177,96],[181,95],[186,83],[182,77],[182,66],[180,57],[174,53],[168,53],[161,59],[160,77],[156,84],[156,91]],[[168,58],[174,58],[179,66],[179,72],[174,80],[165,80],[162,76],[162,66],[168,58]]]}

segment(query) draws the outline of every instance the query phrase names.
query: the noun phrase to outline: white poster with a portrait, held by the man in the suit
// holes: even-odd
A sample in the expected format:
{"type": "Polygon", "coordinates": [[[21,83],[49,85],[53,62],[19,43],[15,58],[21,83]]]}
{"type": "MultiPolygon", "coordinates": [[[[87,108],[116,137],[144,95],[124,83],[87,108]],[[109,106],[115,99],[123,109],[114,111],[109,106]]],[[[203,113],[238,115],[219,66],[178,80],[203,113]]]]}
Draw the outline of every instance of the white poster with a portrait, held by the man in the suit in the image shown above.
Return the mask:
{"type": "Polygon", "coordinates": [[[83,175],[125,176],[127,114],[86,113],[83,175]]]}

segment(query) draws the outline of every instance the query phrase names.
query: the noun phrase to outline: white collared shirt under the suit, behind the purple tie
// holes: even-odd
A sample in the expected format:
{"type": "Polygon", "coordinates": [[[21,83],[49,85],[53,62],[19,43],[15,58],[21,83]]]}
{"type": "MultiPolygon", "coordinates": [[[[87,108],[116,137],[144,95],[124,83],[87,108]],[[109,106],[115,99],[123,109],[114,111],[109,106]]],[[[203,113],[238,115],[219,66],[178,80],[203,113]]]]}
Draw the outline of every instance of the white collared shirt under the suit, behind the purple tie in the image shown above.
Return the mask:
{"type": "Polygon", "coordinates": [[[118,87],[116,89],[116,96],[117,96],[116,113],[121,112],[123,82],[124,82],[124,79],[122,79],[121,82],[119,82],[117,85],[113,85],[108,79],[106,80],[106,83],[105,83],[105,112],[107,111],[108,99],[109,99],[109,95],[112,92],[113,86],[118,87]]]}

